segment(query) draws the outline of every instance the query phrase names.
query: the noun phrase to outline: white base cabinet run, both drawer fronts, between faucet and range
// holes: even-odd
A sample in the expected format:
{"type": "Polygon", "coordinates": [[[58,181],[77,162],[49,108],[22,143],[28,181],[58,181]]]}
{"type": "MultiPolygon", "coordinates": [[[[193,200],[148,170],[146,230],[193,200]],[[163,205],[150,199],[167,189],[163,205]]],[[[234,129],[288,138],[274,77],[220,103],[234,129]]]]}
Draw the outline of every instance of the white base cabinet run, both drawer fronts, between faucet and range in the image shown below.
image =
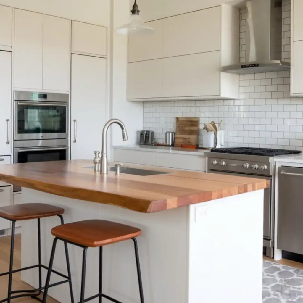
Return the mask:
{"type": "Polygon", "coordinates": [[[153,167],[206,171],[206,157],[165,152],[114,149],[114,161],[122,164],[140,164],[153,167]]]}

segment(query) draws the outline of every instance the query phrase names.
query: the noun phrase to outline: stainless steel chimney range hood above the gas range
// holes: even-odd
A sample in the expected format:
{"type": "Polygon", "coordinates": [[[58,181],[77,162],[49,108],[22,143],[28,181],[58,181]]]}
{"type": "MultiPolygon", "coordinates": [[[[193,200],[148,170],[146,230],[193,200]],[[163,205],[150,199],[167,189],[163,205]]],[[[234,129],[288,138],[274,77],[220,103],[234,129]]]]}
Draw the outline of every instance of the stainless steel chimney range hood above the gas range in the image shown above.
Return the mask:
{"type": "Polygon", "coordinates": [[[282,0],[249,0],[246,7],[246,60],[221,71],[250,74],[289,70],[290,63],[281,59],[282,0]]]}

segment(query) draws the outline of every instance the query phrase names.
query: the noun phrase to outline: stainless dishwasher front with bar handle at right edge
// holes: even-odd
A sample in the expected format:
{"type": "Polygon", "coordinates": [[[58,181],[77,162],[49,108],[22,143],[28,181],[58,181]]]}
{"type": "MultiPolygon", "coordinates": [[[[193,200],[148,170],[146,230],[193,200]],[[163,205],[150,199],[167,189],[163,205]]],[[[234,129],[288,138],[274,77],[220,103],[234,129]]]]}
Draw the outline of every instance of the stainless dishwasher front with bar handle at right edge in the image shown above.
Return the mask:
{"type": "Polygon", "coordinates": [[[278,169],[279,249],[303,255],[303,168],[278,169]]]}

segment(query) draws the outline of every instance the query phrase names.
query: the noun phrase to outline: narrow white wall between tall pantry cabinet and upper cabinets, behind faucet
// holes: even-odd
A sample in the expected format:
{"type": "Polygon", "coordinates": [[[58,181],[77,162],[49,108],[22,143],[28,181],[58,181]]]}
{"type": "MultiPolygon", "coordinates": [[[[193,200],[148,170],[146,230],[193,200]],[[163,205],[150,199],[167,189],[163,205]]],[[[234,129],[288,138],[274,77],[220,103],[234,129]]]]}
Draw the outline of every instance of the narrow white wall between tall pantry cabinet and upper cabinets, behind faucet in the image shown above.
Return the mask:
{"type": "Polygon", "coordinates": [[[135,144],[136,131],[143,127],[143,103],[126,101],[127,36],[114,32],[128,21],[129,13],[128,1],[112,0],[112,117],[122,120],[128,133],[128,141],[122,141],[121,129],[113,125],[113,145],[135,144]]]}

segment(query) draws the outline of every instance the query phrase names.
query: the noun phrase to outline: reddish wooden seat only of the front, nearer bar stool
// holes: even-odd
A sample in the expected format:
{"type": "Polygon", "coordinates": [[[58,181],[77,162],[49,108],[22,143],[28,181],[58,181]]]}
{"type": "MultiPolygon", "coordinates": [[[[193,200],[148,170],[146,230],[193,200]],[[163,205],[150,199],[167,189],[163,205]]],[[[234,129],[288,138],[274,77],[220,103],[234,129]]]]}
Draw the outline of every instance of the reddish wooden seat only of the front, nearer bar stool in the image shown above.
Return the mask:
{"type": "Polygon", "coordinates": [[[99,247],[135,238],[141,230],[105,220],[86,220],[56,226],[52,235],[78,245],[99,247]]]}

